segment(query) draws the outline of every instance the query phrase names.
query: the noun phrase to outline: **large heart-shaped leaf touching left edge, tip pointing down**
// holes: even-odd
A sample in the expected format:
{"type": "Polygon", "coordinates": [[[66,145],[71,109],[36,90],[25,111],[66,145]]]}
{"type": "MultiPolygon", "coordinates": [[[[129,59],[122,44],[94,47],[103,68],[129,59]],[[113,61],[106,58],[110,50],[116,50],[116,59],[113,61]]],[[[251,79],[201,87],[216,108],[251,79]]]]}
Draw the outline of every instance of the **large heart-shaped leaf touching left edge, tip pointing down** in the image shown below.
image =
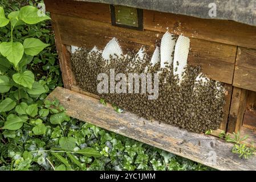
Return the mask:
{"type": "Polygon", "coordinates": [[[2,42],[0,44],[0,53],[17,67],[22,59],[24,48],[19,42],[2,42]]]}

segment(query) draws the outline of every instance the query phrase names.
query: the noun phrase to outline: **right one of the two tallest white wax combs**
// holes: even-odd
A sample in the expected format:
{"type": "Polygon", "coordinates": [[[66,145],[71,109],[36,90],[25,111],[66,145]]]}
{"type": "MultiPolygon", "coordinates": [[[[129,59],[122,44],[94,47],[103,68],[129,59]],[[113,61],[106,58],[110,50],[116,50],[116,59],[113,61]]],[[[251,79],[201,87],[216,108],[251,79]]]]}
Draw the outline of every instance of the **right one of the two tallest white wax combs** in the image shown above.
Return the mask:
{"type": "Polygon", "coordinates": [[[174,50],[173,75],[178,75],[179,83],[182,81],[182,73],[184,73],[187,64],[189,44],[189,38],[182,35],[178,36],[174,50]]]}

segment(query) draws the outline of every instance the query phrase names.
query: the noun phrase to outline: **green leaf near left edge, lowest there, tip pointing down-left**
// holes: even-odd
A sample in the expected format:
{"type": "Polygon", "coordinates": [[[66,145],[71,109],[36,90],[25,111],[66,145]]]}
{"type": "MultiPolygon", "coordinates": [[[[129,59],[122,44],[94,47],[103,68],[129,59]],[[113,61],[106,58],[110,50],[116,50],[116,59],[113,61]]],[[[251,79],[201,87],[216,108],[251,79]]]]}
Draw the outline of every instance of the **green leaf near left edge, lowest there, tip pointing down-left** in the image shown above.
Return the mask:
{"type": "Polygon", "coordinates": [[[6,118],[5,125],[3,129],[7,130],[18,130],[23,126],[23,119],[18,117],[17,115],[10,114],[6,118]]]}

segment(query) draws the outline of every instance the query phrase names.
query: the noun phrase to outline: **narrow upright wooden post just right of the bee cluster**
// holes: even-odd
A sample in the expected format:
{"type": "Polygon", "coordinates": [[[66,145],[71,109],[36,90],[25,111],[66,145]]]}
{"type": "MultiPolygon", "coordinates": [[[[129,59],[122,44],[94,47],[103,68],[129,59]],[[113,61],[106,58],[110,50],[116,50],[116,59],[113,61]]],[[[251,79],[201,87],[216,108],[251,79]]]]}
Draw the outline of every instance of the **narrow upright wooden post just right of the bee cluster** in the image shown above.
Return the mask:
{"type": "Polygon", "coordinates": [[[229,111],[228,133],[237,133],[243,123],[243,114],[246,108],[247,90],[234,87],[229,111]]]}

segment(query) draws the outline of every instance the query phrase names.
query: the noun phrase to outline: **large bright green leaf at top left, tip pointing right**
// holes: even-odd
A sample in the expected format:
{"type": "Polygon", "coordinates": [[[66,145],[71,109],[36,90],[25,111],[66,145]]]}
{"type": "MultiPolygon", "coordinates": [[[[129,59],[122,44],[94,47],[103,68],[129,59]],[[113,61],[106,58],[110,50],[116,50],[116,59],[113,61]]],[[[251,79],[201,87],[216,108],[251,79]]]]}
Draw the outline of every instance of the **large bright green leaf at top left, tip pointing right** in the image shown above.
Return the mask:
{"type": "Polygon", "coordinates": [[[24,6],[19,10],[18,18],[27,24],[35,24],[43,20],[51,19],[34,6],[24,6]]]}

